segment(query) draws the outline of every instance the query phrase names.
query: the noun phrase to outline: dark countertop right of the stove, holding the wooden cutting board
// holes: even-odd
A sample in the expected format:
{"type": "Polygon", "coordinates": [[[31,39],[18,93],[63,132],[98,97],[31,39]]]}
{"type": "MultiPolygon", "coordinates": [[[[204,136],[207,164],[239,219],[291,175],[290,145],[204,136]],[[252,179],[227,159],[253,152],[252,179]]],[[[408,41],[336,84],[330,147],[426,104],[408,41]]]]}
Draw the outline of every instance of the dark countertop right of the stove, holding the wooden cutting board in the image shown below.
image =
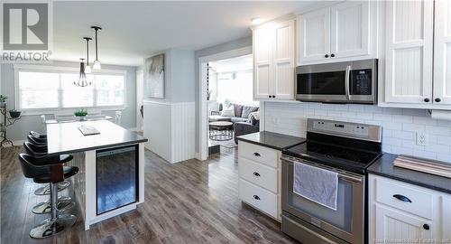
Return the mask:
{"type": "Polygon", "coordinates": [[[398,155],[383,154],[381,158],[368,167],[368,173],[451,194],[450,178],[394,166],[393,162],[397,156],[398,155]]]}

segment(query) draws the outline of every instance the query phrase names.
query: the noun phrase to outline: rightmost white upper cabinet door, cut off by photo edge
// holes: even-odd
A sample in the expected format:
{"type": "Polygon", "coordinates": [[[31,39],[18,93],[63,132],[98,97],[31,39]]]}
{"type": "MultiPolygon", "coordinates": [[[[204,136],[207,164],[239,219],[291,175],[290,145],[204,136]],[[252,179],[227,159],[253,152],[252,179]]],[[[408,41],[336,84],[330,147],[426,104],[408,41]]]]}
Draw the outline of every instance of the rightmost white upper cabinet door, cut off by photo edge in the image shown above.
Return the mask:
{"type": "Polygon", "coordinates": [[[451,104],[451,3],[436,0],[434,36],[434,100],[451,104]]]}

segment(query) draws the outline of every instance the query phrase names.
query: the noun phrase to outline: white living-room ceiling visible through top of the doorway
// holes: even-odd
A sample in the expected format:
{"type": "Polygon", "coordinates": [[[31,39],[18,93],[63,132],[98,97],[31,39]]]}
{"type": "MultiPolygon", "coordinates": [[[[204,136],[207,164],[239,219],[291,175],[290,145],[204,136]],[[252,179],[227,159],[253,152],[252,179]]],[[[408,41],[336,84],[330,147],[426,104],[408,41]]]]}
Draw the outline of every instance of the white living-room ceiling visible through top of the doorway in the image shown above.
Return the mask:
{"type": "Polygon", "coordinates": [[[208,63],[214,72],[234,72],[240,70],[252,70],[253,69],[253,55],[245,55],[232,59],[226,59],[221,61],[212,61],[208,63]]]}

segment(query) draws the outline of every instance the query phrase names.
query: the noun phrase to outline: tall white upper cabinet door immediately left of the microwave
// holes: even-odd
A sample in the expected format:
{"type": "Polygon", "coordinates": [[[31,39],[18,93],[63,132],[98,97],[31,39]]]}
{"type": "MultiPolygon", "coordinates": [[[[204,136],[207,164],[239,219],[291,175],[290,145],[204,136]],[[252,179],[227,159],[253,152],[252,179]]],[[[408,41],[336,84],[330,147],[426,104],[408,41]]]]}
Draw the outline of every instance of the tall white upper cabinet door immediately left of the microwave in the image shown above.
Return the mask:
{"type": "Polygon", "coordinates": [[[274,26],[272,95],[275,99],[294,99],[294,26],[294,20],[274,26]]]}

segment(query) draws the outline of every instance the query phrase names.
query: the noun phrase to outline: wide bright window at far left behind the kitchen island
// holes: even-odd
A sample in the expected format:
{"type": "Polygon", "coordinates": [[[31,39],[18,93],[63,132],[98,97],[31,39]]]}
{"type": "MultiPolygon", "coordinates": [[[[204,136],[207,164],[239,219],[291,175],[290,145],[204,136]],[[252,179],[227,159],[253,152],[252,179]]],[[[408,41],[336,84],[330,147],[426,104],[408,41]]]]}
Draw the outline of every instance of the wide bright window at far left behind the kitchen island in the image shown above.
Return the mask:
{"type": "Polygon", "coordinates": [[[21,110],[60,108],[118,108],[125,105],[125,72],[102,70],[87,74],[92,85],[74,85],[78,70],[26,66],[16,69],[16,107],[21,110]]]}

